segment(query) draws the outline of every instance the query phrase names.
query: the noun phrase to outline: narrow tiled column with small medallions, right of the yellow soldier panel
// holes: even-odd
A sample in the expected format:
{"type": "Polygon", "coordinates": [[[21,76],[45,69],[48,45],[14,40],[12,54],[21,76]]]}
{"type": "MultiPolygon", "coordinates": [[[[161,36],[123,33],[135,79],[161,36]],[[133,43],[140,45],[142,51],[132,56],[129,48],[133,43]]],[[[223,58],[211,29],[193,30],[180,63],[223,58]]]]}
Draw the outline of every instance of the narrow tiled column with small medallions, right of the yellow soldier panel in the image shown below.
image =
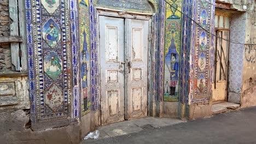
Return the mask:
{"type": "Polygon", "coordinates": [[[193,28],[193,41],[191,44],[191,65],[190,65],[190,100],[208,100],[211,94],[211,53],[210,44],[212,31],[212,1],[201,2],[196,0],[193,3],[193,17],[196,26],[193,28]],[[200,25],[200,26],[197,26],[200,25]]]}

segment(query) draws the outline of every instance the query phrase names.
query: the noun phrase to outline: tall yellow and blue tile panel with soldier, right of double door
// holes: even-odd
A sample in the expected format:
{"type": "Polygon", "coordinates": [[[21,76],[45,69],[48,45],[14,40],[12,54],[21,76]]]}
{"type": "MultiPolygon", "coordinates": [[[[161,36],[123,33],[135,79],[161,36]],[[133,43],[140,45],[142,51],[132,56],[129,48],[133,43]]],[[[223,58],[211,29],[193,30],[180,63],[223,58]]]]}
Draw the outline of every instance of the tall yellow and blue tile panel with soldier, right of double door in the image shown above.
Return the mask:
{"type": "Polygon", "coordinates": [[[182,8],[182,0],[168,3],[171,5],[166,3],[164,101],[178,101],[181,51],[181,13],[178,10],[182,8]]]}

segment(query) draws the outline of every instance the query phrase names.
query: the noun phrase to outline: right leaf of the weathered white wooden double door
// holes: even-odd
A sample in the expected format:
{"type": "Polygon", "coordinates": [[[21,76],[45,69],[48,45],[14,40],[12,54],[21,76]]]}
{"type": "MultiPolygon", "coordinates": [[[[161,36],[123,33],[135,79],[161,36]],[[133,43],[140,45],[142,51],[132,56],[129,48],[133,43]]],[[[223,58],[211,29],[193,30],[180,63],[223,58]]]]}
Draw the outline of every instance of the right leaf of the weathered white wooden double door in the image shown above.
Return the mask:
{"type": "Polygon", "coordinates": [[[148,21],[126,19],[127,119],[147,116],[148,21]]]}

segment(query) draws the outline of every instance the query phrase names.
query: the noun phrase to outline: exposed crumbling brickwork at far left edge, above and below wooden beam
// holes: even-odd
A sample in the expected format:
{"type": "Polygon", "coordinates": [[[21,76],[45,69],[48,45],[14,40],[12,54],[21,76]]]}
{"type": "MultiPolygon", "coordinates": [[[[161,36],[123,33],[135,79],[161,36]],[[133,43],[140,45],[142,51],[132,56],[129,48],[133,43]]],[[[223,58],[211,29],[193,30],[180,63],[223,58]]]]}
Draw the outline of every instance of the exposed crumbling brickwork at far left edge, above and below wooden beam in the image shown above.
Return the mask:
{"type": "MultiPolygon", "coordinates": [[[[9,0],[0,0],[0,37],[9,36],[9,0]]],[[[10,44],[0,43],[0,70],[11,69],[10,44]]]]}

